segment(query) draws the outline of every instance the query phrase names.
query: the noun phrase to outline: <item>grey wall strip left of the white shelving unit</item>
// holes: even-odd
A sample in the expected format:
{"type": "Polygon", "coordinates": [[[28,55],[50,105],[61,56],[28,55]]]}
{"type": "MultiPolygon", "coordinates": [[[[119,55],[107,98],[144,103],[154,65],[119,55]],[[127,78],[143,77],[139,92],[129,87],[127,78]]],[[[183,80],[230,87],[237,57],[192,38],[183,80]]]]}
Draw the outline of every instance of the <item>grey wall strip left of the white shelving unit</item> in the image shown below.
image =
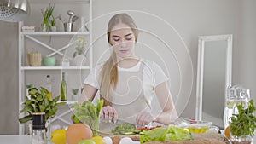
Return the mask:
{"type": "Polygon", "coordinates": [[[0,21],[0,134],[18,133],[18,28],[0,21]]]}

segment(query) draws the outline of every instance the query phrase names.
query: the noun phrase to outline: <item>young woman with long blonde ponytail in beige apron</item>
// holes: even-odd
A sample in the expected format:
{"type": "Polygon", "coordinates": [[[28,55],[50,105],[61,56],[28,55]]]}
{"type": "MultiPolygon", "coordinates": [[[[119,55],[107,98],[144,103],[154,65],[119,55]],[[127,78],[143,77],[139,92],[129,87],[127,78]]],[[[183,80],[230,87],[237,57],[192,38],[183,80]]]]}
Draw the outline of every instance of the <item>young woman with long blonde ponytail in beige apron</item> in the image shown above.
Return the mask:
{"type": "Polygon", "coordinates": [[[97,65],[84,80],[79,102],[93,100],[100,90],[104,99],[102,119],[123,121],[137,127],[151,122],[171,124],[177,118],[165,73],[160,66],[135,55],[138,30],[128,14],[116,14],[108,23],[108,43],[113,49],[109,59],[97,65]],[[153,113],[153,97],[162,112],[153,113]]]}

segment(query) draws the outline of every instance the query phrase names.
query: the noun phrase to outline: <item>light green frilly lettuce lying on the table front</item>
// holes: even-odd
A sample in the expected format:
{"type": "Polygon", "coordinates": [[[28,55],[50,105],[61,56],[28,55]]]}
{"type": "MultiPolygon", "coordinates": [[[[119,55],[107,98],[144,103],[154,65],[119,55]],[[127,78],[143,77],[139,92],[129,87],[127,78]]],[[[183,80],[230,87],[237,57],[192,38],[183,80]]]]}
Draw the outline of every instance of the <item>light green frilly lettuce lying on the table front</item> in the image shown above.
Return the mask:
{"type": "Polygon", "coordinates": [[[148,141],[185,141],[193,140],[189,131],[169,125],[167,128],[155,128],[154,130],[143,131],[140,135],[140,142],[148,141]]]}

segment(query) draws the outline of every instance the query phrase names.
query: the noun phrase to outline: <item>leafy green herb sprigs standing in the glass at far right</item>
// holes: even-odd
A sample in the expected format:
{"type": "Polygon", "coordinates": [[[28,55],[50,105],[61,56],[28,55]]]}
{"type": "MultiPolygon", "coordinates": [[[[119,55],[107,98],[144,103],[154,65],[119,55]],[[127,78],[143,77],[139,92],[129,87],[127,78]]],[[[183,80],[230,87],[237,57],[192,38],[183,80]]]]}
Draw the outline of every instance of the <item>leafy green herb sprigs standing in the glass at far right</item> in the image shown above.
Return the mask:
{"type": "Polygon", "coordinates": [[[254,112],[256,107],[253,104],[253,100],[249,101],[249,106],[244,107],[243,103],[237,104],[238,114],[233,114],[230,118],[230,132],[232,135],[254,135],[256,117],[254,112]]]}

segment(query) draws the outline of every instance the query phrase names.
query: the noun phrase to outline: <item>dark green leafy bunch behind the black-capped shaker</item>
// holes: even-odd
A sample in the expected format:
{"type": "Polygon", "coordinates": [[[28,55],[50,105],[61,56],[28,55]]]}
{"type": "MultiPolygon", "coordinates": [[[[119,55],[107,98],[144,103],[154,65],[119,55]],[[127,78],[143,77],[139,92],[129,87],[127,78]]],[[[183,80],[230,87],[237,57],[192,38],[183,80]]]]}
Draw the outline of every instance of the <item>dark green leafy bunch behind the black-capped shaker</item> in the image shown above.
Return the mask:
{"type": "Polygon", "coordinates": [[[40,87],[40,89],[31,88],[28,90],[30,99],[26,95],[26,100],[23,102],[24,108],[20,110],[20,113],[27,112],[28,115],[19,119],[21,124],[32,120],[33,112],[45,112],[46,120],[53,118],[55,117],[58,107],[66,104],[66,102],[58,102],[60,96],[56,96],[54,99],[49,99],[47,96],[48,94],[49,91],[44,87],[40,87]]]}

